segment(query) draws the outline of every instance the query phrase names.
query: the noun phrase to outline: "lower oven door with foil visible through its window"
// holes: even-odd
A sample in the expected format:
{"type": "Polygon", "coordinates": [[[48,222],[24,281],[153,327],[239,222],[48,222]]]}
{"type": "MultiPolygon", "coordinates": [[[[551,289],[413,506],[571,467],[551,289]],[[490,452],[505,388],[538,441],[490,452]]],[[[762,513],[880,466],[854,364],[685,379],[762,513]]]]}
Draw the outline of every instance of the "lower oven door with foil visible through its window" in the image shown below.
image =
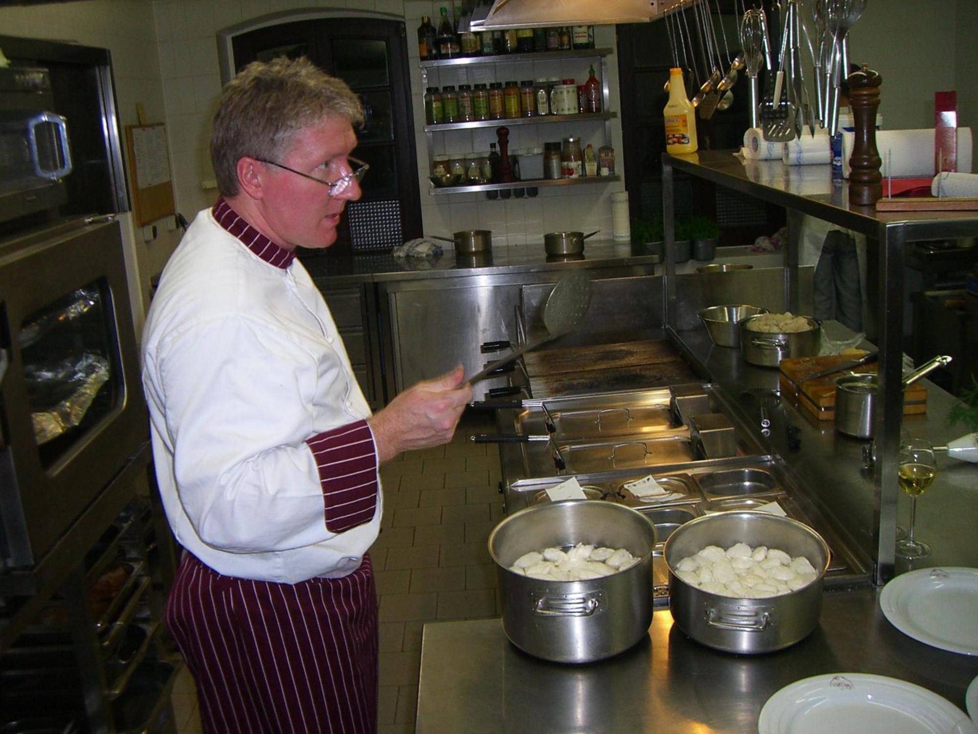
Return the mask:
{"type": "Polygon", "coordinates": [[[38,564],[149,435],[119,223],[0,242],[0,572],[38,564]]]}

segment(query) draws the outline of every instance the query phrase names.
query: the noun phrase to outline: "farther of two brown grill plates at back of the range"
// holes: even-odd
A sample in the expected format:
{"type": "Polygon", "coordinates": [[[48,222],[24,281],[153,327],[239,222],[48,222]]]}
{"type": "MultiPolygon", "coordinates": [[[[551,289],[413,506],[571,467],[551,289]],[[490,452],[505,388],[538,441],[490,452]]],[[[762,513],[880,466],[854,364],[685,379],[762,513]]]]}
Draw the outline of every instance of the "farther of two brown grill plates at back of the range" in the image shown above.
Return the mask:
{"type": "Polygon", "coordinates": [[[633,367],[679,359],[676,347],[664,340],[593,344],[559,349],[538,349],[523,355],[526,372],[534,375],[561,375],[583,370],[633,367]]]}

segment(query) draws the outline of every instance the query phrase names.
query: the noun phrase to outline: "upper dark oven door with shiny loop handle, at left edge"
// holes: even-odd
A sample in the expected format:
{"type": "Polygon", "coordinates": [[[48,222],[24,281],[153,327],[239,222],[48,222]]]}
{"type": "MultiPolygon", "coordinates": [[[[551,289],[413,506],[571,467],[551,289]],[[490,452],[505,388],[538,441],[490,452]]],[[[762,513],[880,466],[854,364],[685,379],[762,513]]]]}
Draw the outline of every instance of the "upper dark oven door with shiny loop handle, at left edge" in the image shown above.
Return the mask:
{"type": "Polygon", "coordinates": [[[54,110],[48,69],[0,68],[0,221],[67,202],[67,119],[54,110]]]}

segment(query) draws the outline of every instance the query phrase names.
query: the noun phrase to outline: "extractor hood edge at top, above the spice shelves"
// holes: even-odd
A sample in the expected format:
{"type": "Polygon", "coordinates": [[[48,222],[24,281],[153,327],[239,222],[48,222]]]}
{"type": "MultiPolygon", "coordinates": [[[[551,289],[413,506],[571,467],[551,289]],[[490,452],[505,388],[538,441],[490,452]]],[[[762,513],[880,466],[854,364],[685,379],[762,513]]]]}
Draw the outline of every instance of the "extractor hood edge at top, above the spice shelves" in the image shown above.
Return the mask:
{"type": "Polygon", "coordinates": [[[494,0],[472,11],[471,30],[648,23],[681,0],[494,0]]]}

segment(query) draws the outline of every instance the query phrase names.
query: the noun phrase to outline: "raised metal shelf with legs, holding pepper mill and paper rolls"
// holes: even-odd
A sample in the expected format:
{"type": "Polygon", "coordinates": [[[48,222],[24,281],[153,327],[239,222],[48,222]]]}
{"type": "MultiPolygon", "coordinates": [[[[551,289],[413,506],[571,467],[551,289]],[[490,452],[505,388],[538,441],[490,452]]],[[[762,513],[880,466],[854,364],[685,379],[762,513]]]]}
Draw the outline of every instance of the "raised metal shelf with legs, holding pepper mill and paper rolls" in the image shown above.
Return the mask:
{"type": "MultiPolygon", "coordinates": [[[[814,166],[809,166],[814,167],[814,166]]],[[[818,217],[845,229],[866,235],[875,267],[875,311],[879,349],[880,407],[876,412],[872,470],[873,578],[883,584],[895,573],[897,528],[897,483],[900,431],[903,419],[901,389],[904,352],[904,264],[908,243],[923,240],[973,237],[978,235],[978,216],[963,211],[878,211],[874,206],[849,204],[849,183],[833,180],[830,168],[824,170],[824,185],[817,193],[799,195],[788,190],[787,166],[784,175],[766,183],[752,181],[744,165],[732,151],[701,151],[687,156],[662,157],[662,208],[665,239],[665,328],[670,338],[683,344],[678,333],[676,276],[676,201],[674,171],[711,181],[768,204],[787,209],[788,245],[784,251],[784,307],[799,310],[798,240],[803,214],[818,217]]],[[[812,190],[816,191],[817,187],[812,190]]],[[[870,269],[869,278],[872,279],[870,269]]],[[[777,373],[775,374],[777,379],[777,373]]],[[[840,478],[845,481],[850,478],[840,478]]]]}

